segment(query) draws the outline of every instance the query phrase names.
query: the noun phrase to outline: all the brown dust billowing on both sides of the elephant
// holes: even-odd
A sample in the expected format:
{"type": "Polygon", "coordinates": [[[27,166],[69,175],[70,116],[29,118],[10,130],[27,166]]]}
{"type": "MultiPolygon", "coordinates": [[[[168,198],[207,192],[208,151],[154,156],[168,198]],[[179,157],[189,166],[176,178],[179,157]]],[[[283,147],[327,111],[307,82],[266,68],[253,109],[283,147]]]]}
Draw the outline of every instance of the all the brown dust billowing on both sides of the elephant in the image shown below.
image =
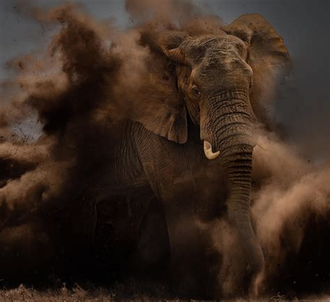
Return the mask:
{"type": "MultiPolygon", "coordinates": [[[[100,167],[120,133],[120,121],[134,114],[132,100],[144,101],[141,91],[157,86],[157,77],[150,82],[150,74],[157,75],[164,62],[155,59],[141,33],[216,33],[223,24],[186,2],[127,1],[126,8],[139,24],[125,31],[93,20],[72,4],[47,11],[29,9],[31,17],[54,35],[38,56],[27,54],[8,62],[15,75],[1,82],[0,278],[7,286],[58,286],[60,279],[72,284],[89,278],[104,285],[134,278],[133,270],[124,265],[134,257],[129,240],[123,239],[120,248],[104,243],[107,229],[100,222],[99,250],[94,248],[95,257],[86,264],[84,257],[91,251],[81,252],[84,239],[72,240],[77,238],[75,209],[89,197],[85,188],[102,178],[100,167]],[[156,6],[162,6],[162,13],[155,13],[156,6]],[[25,135],[31,126],[33,135],[25,135]],[[107,255],[116,260],[104,264],[107,255]]],[[[251,199],[266,264],[258,280],[260,295],[281,293],[292,299],[329,292],[329,183],[330,158],[313,163],[276,130],[260,126],[251,199]]],[[[204,227],[214,240],[212,252],[226,255],[231,243],[226,223],[204,227]]],[[[168,296],[168,275],[162,274],[158,283],[159,292],[168,296]]]]}

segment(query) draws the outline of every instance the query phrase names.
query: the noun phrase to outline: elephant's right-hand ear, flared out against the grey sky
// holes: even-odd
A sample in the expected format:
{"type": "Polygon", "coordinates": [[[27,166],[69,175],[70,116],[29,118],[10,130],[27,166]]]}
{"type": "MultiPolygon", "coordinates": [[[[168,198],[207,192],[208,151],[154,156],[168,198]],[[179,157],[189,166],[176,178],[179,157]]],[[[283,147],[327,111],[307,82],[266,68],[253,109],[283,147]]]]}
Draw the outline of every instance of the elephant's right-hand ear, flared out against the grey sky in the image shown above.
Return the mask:
{"type": "Polygon", "coordinates": [[[292,60],[283,38],[258,14],[242,15],[223,27],[223,31],[248,45],[247,62],[253,70],[251,105],[258,119],[272,126],[269,115],[277,97],[278,84],[292,70],[292,60]]]}

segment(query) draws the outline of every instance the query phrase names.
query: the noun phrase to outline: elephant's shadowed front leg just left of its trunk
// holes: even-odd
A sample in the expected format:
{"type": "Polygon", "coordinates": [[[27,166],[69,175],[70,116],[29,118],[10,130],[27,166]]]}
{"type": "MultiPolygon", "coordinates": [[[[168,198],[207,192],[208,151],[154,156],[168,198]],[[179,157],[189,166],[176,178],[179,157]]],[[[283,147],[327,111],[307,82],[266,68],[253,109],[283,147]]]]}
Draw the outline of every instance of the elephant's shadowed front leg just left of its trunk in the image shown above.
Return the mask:
{"type": "Polygon", "coordinates": [[[175,294],[194,299],[212,299],[217,293],[221,265],[214,249],[210,227],[205,227],[193,187],[158,186],[164,206],[171,251],[171,281],[175,294]],[[190,192],[190,193],[187,193],[190,192]]]}

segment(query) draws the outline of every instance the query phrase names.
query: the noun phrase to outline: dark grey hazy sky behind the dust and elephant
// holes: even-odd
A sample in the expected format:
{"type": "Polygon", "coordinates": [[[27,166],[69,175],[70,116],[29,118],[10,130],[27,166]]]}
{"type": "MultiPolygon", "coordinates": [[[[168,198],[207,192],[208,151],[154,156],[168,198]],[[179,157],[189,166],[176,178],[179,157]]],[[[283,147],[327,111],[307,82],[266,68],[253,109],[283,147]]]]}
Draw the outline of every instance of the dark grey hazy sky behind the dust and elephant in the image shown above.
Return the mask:
{"type": "MultiPolygon", "coordinates": [[[[24,3],[24,1],[22,1],[24,3]]],[[[62,0],[35,0],[56,6],[62,0]]],[[[81,0],[97,19],[114,18],[125,27],[128,16],[122,0],[81,0]]],[[[283,36],[294,60],[297,91],[278,105],[278,119],[293,139],[304,135],[330,150],[330,1],[329,0],[194,0],[197,6],[219,15],[226,23],[244,13],[260,13],[283,36]],[[315,133],[318,133],[315,135],[315,133]],[[322,140],[324,142],[322,142],[322,140]]],[[[16,1],[0,0],[0,79],[8,77],[4,63],[13,56],[38,49],[49,41],[40,24],[24,17],[16,1]]],[[[305,139],[306,140],[306,139],[305,139]]],[[[308,142],[310,140],[308,139],[308,142]]],[[[308,143],[309,144],[309,143],[308,143]]],[[[308,146],[304,146],[308,149],[308,146]]]]}

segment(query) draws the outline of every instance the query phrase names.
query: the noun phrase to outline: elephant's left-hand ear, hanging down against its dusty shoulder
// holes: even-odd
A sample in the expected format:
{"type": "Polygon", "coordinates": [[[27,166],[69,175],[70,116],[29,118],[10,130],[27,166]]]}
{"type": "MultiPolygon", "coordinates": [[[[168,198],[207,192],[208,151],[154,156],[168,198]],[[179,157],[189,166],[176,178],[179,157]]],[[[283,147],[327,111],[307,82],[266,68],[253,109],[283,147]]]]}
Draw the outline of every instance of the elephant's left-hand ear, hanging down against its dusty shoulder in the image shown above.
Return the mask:
{"type": "Polygon", "coordinates": [[[175,68],[177,50],[185,33],[161,31],[141,33],[141,43],[148,45],[151,56],[148,59],[148,74],[139,91],[139,103],[132,110],[132,119],[145,128],[184,144],[187,142],[187,111],[178,91],[175,68]]]}

